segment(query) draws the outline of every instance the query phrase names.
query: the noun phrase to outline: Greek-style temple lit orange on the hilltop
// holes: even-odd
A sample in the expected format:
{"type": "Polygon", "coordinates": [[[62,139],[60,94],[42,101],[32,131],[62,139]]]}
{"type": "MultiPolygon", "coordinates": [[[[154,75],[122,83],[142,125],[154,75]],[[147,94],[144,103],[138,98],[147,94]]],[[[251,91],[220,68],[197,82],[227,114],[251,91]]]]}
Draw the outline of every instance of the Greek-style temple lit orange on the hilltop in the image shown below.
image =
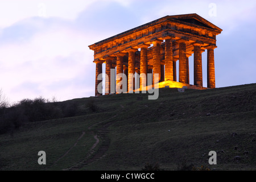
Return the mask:
{"type": "MultiPolygon", "coordinates": [[[[110,82],[121,82],[118,73],[127,76],[127,92],[134,90],[134,77],[131,74],[159,74],[159,88],[190,89],[215,88],[214,48],[216,35],[221,28],[208,22],[197,14],[164,16],[142,26],[122,32],[108,39],[89,46],[94,51],[96,63],[96,89],[98,75],[102,73],[102,64],[106,64],[105,94],[110,93],[110,82]],[[202,56],[207,50],[207,86],[203,86],[202,56]],[[193,85],[189,84],[189,57],[193,54],[193,85]],[[179,68],[176,63],[179,61],[179,68]],[[110,77],[110,70],[115,69],[116,76],[110,77]],[[177,80],[179,74],[179,80],[177,80]],[[112,78],[112,79],[111,79],[112,78]]],[[[141,77],[142,79],[142,77],[141,77]]],[[[153,78],[154,80],[154,78],[153,78]]],[[[140,89],[143,87],[142,80],[140,89]]],[[[148,84],[147,84],[148,85],[148,84]]],[[[117,92],[118,93],[118,92],[117,92]]]]}

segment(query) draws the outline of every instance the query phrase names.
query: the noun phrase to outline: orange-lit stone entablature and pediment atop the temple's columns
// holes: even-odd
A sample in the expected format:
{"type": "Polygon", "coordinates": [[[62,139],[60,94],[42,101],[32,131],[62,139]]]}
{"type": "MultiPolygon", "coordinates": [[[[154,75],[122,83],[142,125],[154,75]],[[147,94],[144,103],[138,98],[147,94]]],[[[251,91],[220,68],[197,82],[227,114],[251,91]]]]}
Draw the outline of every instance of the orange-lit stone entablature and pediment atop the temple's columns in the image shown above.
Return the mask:
{"type": "MultiPolygon", "coordinates": [[[[200,18],[196,14],[164,16],[163,18],[154,20],[129,31],[115,35],[111,38],[102,40],[89,46],[94,50],[94,60],[101,59],[105,56],[114,55],[115,52],[127,52],[129,48],[149,47],[155,40],[162,43],[164,39],[172,39],[172,41],[180,42],[179,39],[187,39],[187,46],[196,42],[201,43],[201,46],[216,45],[216,35],[221,29],[213,29],[214,25],[207,22],[207,27],[196,26],[195,24],[184,22],[184,18],[192,17],[205,23],[207,20],[200,18]],[[180,19],[179,19],[180,18],[180,19]]],[[[199,22],[199,23],[200,23],[199,22]]],[[[175,45],[175,44],[174,44],[175,45]]],[[[137,50],[138,51],[138,50],[137,50]]]]}

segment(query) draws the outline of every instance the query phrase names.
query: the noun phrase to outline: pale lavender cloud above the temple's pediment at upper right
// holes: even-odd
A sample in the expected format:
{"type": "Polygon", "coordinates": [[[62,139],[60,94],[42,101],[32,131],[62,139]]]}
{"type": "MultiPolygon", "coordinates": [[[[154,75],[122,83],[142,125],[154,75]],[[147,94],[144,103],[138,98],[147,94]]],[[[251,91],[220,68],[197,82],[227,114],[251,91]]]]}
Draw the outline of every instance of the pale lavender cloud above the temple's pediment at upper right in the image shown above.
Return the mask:
{"type": "MultiPolygon", "coordinates": [[[[224,29],[223,34],[229,34],[235,30],[240,22],[255,22],[256,18],[256,1],[212,1],[212,0],[181,0],[181,1],[147,1],[147,9],[141,11],[143,22],[150,22],[166,15],[179,15],[196,13],[209,20],[216,26],[224,29]],[[212,10],[210,4],[216,5],[216,16],[211,16],[212,10]],[[148,11],[146,13],[145,11],[148,11]],[[253,20],[252,20],[253,19],[253,20]]],[[[146,1],[139,1],[141,7],[146,1]]]]}

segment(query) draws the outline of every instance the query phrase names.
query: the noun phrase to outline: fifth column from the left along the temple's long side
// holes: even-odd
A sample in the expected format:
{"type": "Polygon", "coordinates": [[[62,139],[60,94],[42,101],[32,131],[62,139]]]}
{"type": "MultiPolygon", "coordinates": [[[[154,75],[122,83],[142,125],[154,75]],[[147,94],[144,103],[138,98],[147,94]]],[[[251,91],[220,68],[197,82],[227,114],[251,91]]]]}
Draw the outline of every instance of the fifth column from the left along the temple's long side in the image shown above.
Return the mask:
{"type": "Polygon", "coordinates": [[[139,88],[142,88],[142,82],[143,82],[143,85],[146,85],[147,86],[147,48],[148,48],[148,45],[145,45],[143,44],[141,47],[141,67],[140,67],[140,72],[141,74],[145,74],[146,77],[143,77],[141,76],[139,78],[139,88]]]}

